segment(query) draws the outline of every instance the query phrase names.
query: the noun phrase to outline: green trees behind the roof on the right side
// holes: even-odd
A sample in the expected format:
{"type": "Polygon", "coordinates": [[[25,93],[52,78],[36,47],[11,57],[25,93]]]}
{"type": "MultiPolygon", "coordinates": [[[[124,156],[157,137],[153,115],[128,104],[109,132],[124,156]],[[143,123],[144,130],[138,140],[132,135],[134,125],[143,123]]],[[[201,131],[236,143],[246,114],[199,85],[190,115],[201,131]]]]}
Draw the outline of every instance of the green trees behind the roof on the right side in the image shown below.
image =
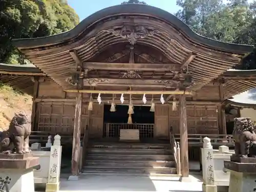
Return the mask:
{"type": "MultiPolygon", "coordinates": [[[[195,32],[220,41],[256,44],[256,1],[177,0],[181,9],[176,16],[195,32]]],[[[256,69],[255,53],[237,69],[256,69]]]]}

